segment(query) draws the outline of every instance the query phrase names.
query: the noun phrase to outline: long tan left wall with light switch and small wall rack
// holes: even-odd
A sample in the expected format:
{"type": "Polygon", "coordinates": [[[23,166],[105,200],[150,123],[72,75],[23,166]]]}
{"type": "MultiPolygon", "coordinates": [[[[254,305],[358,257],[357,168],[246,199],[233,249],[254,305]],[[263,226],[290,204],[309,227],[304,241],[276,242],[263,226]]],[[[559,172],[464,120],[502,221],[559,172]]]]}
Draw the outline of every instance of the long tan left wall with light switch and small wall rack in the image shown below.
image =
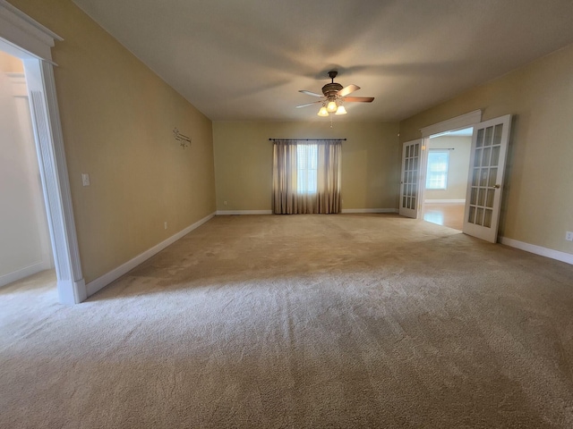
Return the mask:
{"type": "Polygon", "coordinates": [[[52,54],[86,282],[213,213],[210,120],[70,0],[11,3],[64,38],[52,54]]]}

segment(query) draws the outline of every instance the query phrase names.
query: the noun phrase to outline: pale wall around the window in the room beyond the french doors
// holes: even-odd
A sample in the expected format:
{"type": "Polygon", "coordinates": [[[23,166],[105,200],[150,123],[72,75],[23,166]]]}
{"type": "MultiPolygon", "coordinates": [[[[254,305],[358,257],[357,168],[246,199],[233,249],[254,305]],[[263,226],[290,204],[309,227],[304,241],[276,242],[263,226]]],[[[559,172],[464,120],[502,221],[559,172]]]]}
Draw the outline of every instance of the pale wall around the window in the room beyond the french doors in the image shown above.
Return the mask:
{"type": "Polygon", "coordinates": [[[447,189],[426,189],[423,199],[466,199],[467,173],[472,138],[465,136],[442,136],[430,139],[429,149],[449,150],[447,189]]]}

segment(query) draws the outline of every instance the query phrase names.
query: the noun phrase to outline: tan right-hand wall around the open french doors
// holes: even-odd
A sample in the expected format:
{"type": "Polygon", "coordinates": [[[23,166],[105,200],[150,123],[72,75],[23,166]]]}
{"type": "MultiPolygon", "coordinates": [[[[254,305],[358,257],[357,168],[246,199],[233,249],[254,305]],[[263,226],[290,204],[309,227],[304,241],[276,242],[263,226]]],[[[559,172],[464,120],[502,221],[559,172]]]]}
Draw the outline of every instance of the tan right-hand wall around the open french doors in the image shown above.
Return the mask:
{"type": "Polygon", "coordinates": [[[573,254],[573,45],[400,122],[400,139],[483,109],[514,114],[500,235],[573,254]]]}

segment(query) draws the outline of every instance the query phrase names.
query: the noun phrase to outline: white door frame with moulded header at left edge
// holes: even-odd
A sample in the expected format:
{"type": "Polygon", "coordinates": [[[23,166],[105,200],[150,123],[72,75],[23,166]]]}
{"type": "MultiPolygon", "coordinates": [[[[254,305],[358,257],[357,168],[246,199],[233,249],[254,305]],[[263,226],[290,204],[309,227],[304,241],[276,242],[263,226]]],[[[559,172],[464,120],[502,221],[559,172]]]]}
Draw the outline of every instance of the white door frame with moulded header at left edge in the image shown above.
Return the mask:
{"type": "Polygon", "coordinates": [[[0,48],[21,58],[24,63],[47,222],[54,250],[58,297],[63,304],[77,304],[87,298],[87,292],[81,273],[56,99],[53,69],[56,64],[52,62],[51,55],[55,40],[61,41],[63,38],[12,4],[0,0],[0,48]]]}

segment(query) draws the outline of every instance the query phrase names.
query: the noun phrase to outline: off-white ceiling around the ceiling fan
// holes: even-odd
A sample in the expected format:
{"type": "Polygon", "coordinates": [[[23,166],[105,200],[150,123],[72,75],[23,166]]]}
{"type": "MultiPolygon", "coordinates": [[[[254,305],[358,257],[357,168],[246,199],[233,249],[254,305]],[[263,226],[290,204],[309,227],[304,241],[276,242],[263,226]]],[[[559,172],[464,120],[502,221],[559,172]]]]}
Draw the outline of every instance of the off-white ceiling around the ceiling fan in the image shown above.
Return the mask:
{"type": "Polygon", "coordinates": [[[213,121],[398,121],[573,43],[572,0],[74,0],[213,121]]]}

